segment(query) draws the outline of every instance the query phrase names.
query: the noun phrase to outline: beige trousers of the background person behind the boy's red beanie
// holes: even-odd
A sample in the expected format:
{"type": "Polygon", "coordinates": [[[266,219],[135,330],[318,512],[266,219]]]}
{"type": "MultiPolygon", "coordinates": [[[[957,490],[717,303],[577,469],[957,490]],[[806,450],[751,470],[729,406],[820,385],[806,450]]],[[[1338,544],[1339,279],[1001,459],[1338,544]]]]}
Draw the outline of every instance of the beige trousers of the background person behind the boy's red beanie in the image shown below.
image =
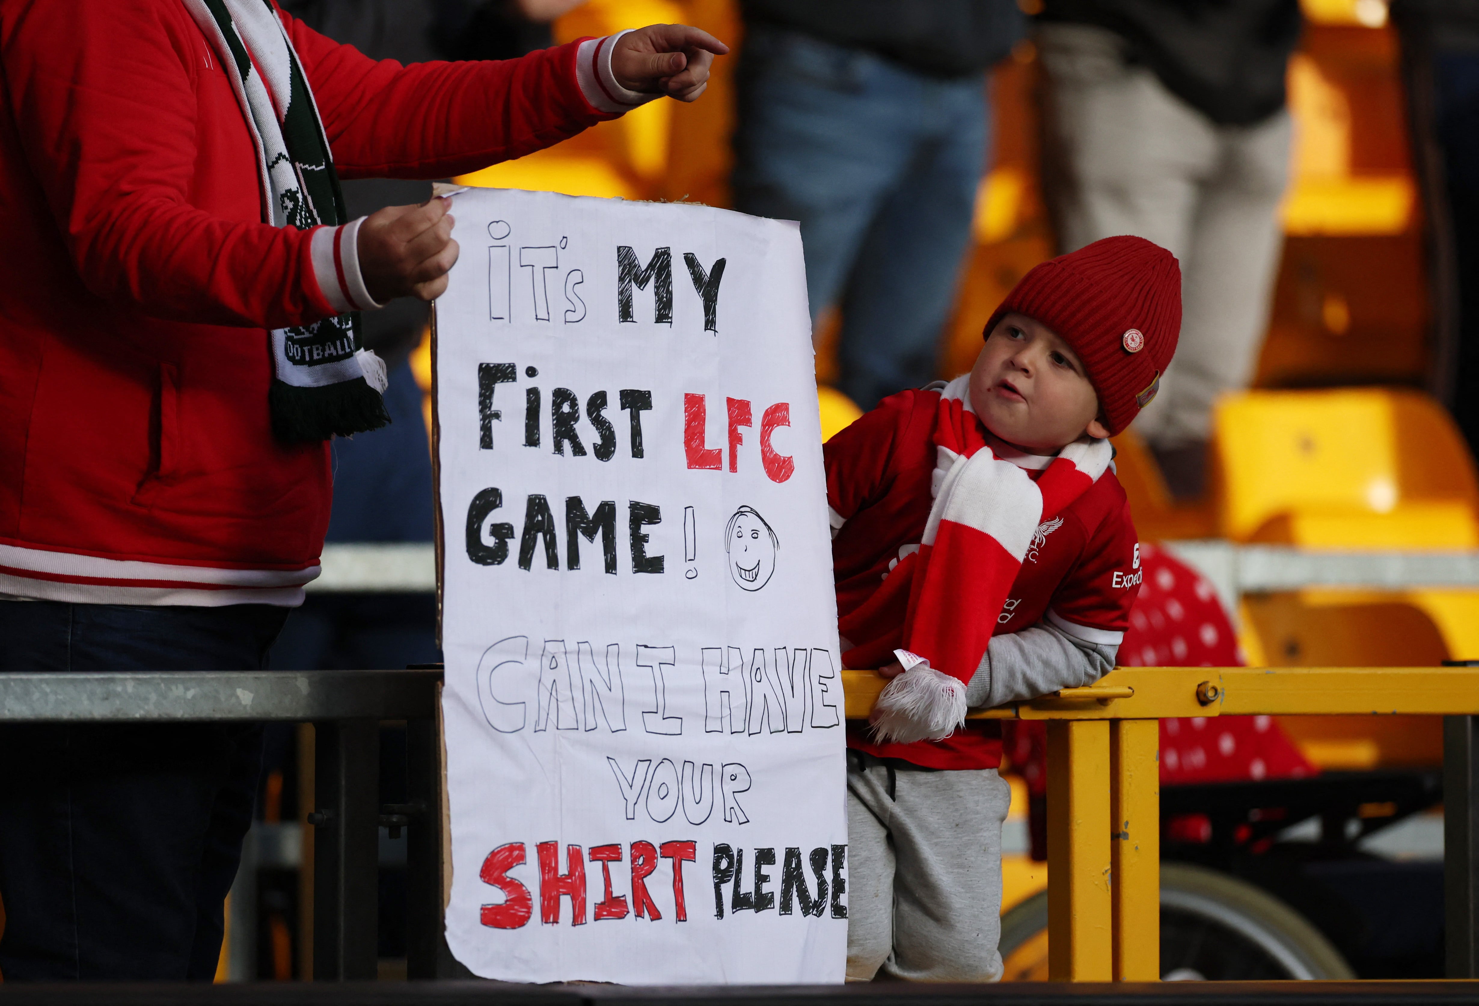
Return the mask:
{"type": "Polygon", "coordinates": [[[1247,388],[1282,247],[1288,111],[1217,126],[1092,25],[1038,28],[1046,70],[1044,186],[1062,252],[1134,234],[1182,266],[1182,334],[1136,431],[1162,448],[1205,441],[1211,407],[1247,388]]]}

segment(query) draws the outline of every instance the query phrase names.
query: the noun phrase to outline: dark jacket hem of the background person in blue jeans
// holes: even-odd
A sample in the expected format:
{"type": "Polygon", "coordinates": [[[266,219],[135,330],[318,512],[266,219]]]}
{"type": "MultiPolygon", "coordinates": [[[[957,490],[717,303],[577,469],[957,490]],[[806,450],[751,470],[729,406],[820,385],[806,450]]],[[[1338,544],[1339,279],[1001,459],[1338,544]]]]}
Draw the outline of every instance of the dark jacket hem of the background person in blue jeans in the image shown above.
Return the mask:
{"type": "Polygon", "coordinates": [[[744,16],[938,77],[979,74],[1026,27],[1016,0],[744,0],[744,16]]]}

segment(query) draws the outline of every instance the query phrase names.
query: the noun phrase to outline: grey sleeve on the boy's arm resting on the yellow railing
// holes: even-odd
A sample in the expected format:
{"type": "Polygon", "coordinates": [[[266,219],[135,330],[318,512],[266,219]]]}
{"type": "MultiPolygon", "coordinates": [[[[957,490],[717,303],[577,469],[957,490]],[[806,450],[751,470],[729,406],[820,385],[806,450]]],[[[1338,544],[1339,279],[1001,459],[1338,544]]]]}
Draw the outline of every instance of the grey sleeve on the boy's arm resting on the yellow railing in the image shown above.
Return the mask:
{"type": "Polygon", "coordinates": [[[966,685],[966,704],[988,709],[1092,685],[1114,667],[1118,651],[1118,644],[1087,642],[1047,621],[992,636],[966,685]]]}

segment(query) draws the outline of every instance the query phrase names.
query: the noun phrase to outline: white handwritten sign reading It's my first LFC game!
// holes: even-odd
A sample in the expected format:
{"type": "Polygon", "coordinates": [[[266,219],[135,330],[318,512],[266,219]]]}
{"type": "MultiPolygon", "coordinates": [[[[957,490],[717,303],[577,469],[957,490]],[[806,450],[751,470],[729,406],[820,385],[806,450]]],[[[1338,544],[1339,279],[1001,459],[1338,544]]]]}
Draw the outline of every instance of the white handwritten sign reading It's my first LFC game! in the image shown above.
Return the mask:
{"type": "Polygon", "coordinates": [[[842,981],[842,661],[796,226],[501,189],[453,213],[453,953],[513,981],[842,981]]]}

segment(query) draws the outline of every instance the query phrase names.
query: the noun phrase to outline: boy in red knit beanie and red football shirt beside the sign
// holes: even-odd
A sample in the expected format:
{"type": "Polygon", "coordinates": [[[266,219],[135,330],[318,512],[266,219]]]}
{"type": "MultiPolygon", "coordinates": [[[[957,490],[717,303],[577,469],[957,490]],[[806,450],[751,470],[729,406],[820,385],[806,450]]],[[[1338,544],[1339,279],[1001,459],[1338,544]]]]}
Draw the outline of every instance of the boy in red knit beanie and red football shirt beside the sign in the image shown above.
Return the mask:
{"type": "Polygon", "coordinates": [[[892,679],[847,737],[850,981],[1001,976],[1010,790],[1000,728],[964,713],[1114,666],[1140,580],[1108,438],[1155,396],[1180,317],[1168,252],[1097,241],[1022,278],[969,376],[825,447],[843,663],[892,679]]]}

